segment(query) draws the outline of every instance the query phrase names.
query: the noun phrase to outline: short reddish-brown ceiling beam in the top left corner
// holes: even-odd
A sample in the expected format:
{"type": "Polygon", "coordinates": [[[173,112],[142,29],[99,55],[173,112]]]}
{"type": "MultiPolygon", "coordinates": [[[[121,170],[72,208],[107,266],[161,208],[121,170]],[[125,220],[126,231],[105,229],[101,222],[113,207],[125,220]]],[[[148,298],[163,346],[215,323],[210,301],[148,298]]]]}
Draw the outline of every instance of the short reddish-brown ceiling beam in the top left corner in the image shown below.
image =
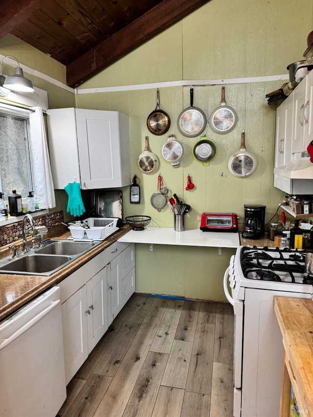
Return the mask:
{"type": "Polygon", "coordinates": [[[0,38],[28,19],[43,2],[44,0],[1,0],[0,38]]]}

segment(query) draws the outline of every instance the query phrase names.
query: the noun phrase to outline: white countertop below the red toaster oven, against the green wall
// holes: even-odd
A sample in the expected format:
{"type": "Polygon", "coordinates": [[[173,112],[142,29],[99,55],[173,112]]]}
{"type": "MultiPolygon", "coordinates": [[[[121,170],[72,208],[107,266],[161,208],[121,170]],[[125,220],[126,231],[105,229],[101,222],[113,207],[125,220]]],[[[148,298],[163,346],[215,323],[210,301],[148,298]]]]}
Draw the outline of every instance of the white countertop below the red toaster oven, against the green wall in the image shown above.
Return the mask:
{"type": "Polygon", "coordinates": [[[162,245],[234,247],[240,246],[239,234],[228,232],[202,232],[200,229],[176,232],[172,227],[145,227],[130,230],[119,242],[156,243],[162,245]]]}

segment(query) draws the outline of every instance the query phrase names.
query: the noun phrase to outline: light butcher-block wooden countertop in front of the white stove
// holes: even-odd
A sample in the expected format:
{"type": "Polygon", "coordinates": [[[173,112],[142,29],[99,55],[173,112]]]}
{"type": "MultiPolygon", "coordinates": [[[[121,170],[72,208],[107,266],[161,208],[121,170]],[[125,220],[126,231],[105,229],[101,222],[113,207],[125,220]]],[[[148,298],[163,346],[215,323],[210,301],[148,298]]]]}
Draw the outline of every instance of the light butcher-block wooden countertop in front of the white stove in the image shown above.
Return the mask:
{"type": "Polygon", "coordinates": [[[286,356],[301,395],[299,405],[312,416],[313,300],[275,296],[274,310],[282,332],[286,356]]]}

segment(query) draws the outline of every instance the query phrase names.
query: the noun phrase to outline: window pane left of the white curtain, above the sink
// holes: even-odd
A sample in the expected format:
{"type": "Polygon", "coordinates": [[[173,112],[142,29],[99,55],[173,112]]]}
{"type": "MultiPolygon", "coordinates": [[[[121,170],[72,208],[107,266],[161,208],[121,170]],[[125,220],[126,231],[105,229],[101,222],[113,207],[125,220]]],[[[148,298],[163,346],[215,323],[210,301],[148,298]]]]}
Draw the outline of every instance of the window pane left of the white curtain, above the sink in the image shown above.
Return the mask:
{"type": "Polygon", "coordinates": [[[0,191],[5,200],[12,190],[27,197],[34,188],[28,126],[25,116],[0,111],[0,191]]]}

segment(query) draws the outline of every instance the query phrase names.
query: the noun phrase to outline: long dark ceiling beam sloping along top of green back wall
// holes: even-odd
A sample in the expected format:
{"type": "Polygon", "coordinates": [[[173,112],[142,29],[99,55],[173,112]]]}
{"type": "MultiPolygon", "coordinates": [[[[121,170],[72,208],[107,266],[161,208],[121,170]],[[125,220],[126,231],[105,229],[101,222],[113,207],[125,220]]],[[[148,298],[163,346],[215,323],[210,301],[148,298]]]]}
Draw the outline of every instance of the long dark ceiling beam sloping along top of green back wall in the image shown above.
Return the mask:
{"type": "Polygon", "coordinates": [[[67,65],[67,85],[76,87],[210,0],[163,0],[108,40],[67,65]]]}

